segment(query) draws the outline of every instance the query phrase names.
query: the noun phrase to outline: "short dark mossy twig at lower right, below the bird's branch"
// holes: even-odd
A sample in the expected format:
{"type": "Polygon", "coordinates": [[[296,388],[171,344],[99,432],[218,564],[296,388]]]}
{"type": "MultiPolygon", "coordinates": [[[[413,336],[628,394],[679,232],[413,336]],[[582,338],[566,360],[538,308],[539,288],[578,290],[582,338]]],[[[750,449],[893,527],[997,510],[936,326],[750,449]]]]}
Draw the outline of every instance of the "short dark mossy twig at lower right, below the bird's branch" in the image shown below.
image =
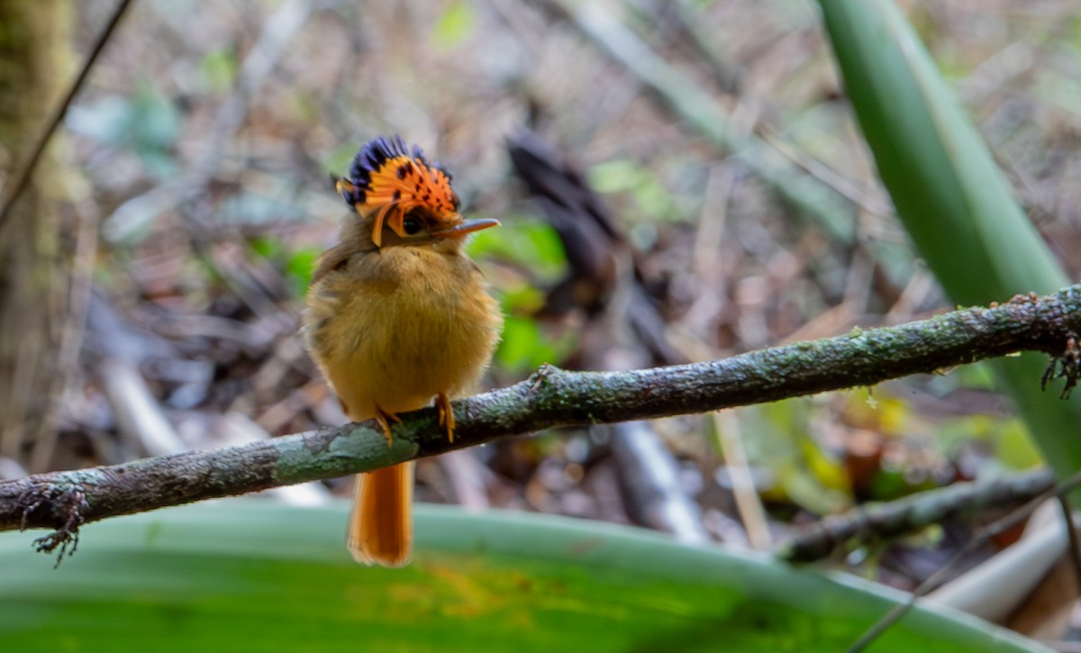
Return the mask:
{"type": "Polygon", "coordinates": [[[827,517],[784,542],[776,555],[792,562],[819,560],[838,545],[895,537],[951,517],[1017,505],[1045,493],[1054,483],[1046,469],[984,482],[955,483],[827,517]]]}

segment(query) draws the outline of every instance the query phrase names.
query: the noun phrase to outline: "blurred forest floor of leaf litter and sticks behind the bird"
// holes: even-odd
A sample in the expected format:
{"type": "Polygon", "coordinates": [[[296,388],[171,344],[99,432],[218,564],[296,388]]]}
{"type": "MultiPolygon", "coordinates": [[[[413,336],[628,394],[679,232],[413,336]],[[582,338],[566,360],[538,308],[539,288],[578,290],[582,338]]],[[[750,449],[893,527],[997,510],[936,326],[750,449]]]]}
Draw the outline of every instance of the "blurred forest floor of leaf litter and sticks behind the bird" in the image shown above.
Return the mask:
{"type": "MultiPolygon", "coordinates": [[[[1077,279],[1081,8],[903,5],[1077,279]]],[[[115,3],[64,6],[61,88],[115,3]]],[[[0,474],[341,424],[296,331],[348,214],[331,175],[379,134],[419,144],[467,214],[503,222],[469,246],[507,316],[489,387],[542,363],[709,360],[951,308],[892,214],[831,57],[801,0],[134,3],[39,166],[38,222],[0,239],[5,274],[26,272],[37,242],[54,275],[4,307],[3,361],[21,372],[0,400],[0,474]],[[42,221],[51,237],[35,235],[42,221]]],[[[0,160],[8,183],[18,157],[0,160]]],[[[502,441],[422,461],[417,495],[769,549],[867,501],[1039,461],[976,364],[502,441]]],[[[317,503],[349,483],[279,494],[317,503]]],[[[837,561],[911,588],[974,528],[837,561]]]]}

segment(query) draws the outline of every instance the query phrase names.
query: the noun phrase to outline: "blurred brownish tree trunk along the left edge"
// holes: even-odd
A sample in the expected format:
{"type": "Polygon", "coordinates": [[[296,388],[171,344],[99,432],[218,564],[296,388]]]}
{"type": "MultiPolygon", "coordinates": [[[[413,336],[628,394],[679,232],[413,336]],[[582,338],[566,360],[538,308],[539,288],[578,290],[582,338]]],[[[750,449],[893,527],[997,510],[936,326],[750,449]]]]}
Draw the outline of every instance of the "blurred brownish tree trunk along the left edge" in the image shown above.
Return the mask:
{"type": "MultiPolygon", "coordinates": [[[[4,198],[69,80],[71,5],[0,0],[0,169],[4,198]]],[[[46,157],[0,224],[0,455],[25,464],[52,428],[66,315],[59,178],[46,157]]]]}

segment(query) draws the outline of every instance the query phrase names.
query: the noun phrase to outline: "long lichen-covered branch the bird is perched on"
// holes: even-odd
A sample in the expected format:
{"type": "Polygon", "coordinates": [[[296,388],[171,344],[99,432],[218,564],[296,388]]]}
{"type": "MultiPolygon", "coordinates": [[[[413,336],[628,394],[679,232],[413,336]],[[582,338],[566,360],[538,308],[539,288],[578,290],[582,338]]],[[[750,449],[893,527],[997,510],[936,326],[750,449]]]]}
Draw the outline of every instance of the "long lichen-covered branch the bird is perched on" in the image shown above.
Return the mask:
{"type": "Polygon", "coordinates": [[[545,367],[516,385],[454,402],[453,442],[438,428],[436,411],[425,409],[402,415],[389,447],[369,421],[244,447],[41,474],[0,482],[0,530],[53,529],[39,547],[62,547],[63,554],[80,524],[106,517],[371,471],[557,426],[700,413],[870,386],[1023,350],[1051,355],[1045,376],[1065,377],[1068,390],[1081,375],[1079,333],[1081,285],[1073,285],[1053,295],[1017,296],[991,308],[704,363],[629,372],[545,367]]]}

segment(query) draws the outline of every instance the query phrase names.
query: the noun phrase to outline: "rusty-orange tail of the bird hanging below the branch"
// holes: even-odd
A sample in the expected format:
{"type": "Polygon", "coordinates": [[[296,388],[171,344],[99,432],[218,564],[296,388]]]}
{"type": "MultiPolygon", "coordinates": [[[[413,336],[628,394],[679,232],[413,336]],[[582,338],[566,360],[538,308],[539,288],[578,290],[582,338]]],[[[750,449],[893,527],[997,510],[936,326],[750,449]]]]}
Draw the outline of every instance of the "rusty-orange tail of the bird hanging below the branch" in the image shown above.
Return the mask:
{"type": "Polygon", "coordinates": [[[358,474],[346,544],[357,562],[403,567],[413,557],[413,467],[358,474]]]}

